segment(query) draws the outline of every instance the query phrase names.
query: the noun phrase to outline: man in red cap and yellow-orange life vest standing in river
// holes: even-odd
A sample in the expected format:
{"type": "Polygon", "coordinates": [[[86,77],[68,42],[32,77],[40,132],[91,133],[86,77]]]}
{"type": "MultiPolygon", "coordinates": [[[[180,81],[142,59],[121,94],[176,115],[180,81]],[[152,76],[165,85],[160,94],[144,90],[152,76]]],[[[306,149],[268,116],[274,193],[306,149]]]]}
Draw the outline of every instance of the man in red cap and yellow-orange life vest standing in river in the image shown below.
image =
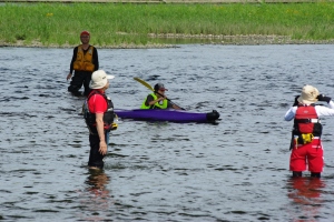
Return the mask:
{"type": "Polygon", "coordinates": [[[89,44],[90,33],[88,31],[80,33],[80,40],[82,44],[73,49],[70,71],[67,75],[67,80],[71,79],[68,91],[79,97],[81,95],[79,90],[84,84],[84,95],[88,97],[90,93],[89,82],[91,80],[91,73],[99,69],[99,59],[97,49],[89,44]],[[75,75],[72,77],[73,71],[75,75]]]}

